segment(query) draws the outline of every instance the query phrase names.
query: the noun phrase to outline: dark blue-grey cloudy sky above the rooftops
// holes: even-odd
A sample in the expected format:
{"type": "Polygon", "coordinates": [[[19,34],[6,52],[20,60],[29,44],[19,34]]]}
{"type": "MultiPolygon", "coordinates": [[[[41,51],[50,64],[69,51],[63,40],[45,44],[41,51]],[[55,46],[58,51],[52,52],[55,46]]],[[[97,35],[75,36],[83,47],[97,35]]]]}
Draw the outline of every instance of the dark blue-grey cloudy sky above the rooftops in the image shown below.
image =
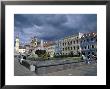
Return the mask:
{"type": "Polygon", "coordinates": [[[96,14],[15,14],[14,38],[22,43],[33,36],[43,40],[57,40],[78,32],[96,32],[96,14]]]}

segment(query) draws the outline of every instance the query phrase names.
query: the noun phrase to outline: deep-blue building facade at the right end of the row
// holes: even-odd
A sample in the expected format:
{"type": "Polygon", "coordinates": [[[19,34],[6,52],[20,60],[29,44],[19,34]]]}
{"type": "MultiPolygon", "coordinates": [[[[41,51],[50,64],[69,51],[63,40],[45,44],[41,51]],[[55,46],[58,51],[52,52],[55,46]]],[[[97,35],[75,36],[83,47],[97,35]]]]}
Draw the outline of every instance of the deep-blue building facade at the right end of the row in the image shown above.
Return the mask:
{"type": "Polygon", "coordinates": [[[80,39],[82,53],[87,55],[97,55],[97,34],[85,33],[80,39]]]}

